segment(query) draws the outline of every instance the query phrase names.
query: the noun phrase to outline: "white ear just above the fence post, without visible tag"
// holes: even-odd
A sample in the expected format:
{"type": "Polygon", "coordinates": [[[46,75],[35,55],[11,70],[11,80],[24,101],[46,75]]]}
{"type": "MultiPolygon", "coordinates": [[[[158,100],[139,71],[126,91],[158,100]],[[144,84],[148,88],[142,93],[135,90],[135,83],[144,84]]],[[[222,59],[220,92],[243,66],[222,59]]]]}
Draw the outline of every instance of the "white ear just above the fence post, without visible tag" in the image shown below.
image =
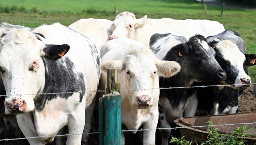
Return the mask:
{"type": "Polygon", "coordinates": [[[118,71],[121,71],[124,70],[124,65],[121,60],[106,61],[101,63],[100,69],[105,72],[107,69],[117,69],[118,71]]]}

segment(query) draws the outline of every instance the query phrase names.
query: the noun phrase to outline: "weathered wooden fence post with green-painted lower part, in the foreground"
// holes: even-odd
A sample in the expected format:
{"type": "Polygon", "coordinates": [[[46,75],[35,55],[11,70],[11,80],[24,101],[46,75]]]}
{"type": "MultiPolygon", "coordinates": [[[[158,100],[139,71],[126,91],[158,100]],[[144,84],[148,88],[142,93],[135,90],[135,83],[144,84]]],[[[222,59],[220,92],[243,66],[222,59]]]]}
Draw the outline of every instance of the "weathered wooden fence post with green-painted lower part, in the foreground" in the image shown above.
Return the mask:
{"type": "Polygon", "coordinates": [[[121,95],[117,70],[107,70],[106,93],[99,99],[100,145],[121,145],[121,95]]]}

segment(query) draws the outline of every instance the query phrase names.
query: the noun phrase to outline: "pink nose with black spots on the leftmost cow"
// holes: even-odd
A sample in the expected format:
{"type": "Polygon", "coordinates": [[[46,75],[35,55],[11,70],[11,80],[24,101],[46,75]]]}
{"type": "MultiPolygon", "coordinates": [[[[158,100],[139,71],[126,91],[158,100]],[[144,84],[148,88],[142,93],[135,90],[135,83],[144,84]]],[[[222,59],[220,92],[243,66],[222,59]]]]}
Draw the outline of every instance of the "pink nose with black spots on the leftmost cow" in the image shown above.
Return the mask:
{"type": "Polygon", "coordinates": [[[14,102],[6,103],[6,107],[10,113],[22,113],[26,108],[26,103],[25,101],[15,100],[14,102]]]}

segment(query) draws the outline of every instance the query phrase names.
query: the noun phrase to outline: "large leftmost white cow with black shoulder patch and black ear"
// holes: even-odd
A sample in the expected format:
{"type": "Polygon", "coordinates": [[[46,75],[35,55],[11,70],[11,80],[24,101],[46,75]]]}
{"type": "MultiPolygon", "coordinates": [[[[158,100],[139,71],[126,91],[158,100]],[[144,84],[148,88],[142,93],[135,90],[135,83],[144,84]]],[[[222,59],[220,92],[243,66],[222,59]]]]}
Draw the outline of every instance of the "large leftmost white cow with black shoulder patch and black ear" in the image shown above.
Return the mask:
{"type": "MultiPolygon", "coordinates": [[[[0,42],[5,113],[17,114],[25,137],[56,135],[67,125],[69,134],[79,135],[67,136],[66,144],[81,144],[83,130],[90,126],[85,116],[86,120],[91,117],[87,110],[94,107],[100,77],[94,43],[60,23],[35,29],[2,23],[0,42]]],[[[40,145],[53,139],[28,141],[40,145]]]]}

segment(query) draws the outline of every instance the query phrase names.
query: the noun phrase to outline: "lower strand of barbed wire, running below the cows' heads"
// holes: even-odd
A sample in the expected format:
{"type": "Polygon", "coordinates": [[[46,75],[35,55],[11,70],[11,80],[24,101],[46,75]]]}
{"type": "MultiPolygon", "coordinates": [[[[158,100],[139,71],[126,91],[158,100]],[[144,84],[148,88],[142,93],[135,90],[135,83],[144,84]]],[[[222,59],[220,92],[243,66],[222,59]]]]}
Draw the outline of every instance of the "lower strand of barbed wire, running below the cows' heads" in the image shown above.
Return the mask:
{"type": "MultiPolygon", "coordinates": [[[[180,129],[180,128],[199,128],[199,127],[212,127],[212,126],[232,126],[232,125],[246,125],[246,124],[256,124],[256,122],[253,122],[253,123],[234,123],[234,124],[214,124],[214,125],[201,125],[201,126],[183,126],[183,127],[170,127],[170,128],[133,129],[133,130],[121,130],[121,132],[164,130],[164,129],[180,129]]],[[[71,135],[85,135],[85,134],[99,134],[99,132],[80,133],[80,134],[62,134],[62,135],[35,136],[35,137],[22,137],[22,138],[5,138],[5,139],[0,139],[0,142],[1,141],[21,140],[21,139],[35,139],[35,138],[60,137],[60,136],[71,136],[71,135]]]]}

